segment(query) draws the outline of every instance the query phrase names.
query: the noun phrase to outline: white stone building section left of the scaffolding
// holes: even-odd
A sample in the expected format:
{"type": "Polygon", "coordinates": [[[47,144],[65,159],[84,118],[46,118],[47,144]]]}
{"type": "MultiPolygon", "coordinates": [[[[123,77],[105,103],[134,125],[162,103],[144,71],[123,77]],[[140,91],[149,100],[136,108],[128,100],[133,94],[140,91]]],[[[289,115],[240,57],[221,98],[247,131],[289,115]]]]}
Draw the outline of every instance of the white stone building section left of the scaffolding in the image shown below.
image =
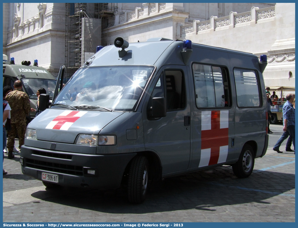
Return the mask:
{"type": "Polygon", "coordinates": [[[38,60],[54,76],[64,63],[65,3],[3,3],[3,54],[38,60]]]}

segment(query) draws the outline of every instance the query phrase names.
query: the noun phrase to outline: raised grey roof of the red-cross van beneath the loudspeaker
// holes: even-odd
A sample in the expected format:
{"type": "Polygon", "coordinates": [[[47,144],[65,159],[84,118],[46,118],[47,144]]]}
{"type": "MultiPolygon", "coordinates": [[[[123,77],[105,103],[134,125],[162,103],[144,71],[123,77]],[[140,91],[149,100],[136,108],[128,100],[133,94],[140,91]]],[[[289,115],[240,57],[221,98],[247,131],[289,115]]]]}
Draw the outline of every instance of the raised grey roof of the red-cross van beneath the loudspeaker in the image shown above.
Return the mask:
{"type": "MultiPolygon", "coordinates": [[[[204,49],[216,50],[221,52],[234,53],[238,55],[245,55],[257,58],[257,56],[251,53],[245,53],[241,51],[229,50],[220,47],[212,47],[203,44],[193,43],[193,47],[199,47],[204,49]]],[[[164,58],[167,61],[173,63],[173,58],[178,57],[175,64],[183,65],[181,57],[181,51],[183,49],[183,41],[168,40],[164,38],[151,38],[145,42],[130,43],[128,48],[125,48],[127,53],[124,57],[119,57],[118,51],[121,48],[114,45],[108,45],[95,53],[91,59],[88,60],[88,64],[83,67],[98,67],[98,66],[121,66],[121,65],[155,65],[159,58],[164,58]],[[175,57],[176,56],[176,57],[175,57]],[[172,58],[172,59],[171,59],[172,58]]]]}

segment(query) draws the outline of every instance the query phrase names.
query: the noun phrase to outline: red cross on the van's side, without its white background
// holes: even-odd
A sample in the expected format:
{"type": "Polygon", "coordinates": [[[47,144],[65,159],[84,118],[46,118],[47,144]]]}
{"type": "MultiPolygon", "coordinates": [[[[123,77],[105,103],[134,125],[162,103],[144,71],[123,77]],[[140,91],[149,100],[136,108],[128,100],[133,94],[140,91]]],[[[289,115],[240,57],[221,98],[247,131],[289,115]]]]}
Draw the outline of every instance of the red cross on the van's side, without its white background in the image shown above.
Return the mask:
{"type": "Polygon", "coordinates": [[[211,149],[208,165],[217,164],[220,147],[229,144],[229,127],[220,128],[220,118],[221,111],[211,111],[211,130],[201,131],[201,150],[211,149]]]}

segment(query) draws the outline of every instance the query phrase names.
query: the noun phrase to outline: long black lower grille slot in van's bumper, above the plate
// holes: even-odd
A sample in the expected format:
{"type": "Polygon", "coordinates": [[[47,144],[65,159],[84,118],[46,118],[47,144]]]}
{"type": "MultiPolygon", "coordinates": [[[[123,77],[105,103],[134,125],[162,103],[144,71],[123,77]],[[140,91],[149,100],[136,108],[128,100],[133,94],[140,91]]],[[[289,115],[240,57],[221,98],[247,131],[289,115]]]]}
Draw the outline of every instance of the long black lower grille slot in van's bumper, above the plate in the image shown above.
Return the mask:
{"type": "Polygon", "coordinates": [[[24,166],[44,171],[83,176],[83,167],[24,158],[24,166]]]}

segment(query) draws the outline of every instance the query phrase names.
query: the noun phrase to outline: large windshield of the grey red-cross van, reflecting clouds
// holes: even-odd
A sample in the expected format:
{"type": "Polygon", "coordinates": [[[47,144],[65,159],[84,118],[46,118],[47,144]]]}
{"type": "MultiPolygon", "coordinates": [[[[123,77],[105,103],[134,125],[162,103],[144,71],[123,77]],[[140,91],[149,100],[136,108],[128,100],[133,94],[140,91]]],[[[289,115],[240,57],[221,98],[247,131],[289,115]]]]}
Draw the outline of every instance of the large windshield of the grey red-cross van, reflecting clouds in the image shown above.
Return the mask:
{"type": "Polygon", "coordinates": [[[77,109],[133,111],[153,70],[149,66],[81,68],[63,87],[54,104],[77,109]]]}

